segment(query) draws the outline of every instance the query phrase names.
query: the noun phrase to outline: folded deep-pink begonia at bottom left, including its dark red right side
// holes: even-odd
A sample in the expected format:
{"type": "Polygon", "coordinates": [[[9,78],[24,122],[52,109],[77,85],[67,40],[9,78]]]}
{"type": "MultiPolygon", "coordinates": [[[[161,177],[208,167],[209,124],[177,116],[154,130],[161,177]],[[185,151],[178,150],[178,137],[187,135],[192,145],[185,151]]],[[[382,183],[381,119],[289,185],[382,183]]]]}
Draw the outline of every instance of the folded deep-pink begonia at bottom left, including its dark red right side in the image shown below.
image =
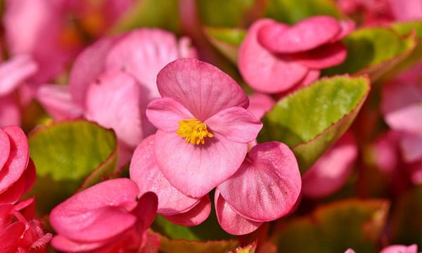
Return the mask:
{"type": "Polygon", "coordinates": [[[73,195],[51,211],[51,245],[65,252],[140,249],[158,203],[154,193],[138,193],[130,179],[113,179],[73,195]]]}

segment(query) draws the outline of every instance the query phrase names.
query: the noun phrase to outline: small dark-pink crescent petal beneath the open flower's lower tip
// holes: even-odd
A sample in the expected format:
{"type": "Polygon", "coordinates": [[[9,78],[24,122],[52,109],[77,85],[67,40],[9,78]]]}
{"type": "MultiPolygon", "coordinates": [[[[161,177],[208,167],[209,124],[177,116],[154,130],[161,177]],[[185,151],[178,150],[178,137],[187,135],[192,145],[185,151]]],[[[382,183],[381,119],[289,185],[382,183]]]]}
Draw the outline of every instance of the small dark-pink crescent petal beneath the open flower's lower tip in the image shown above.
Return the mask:
{"type": "Polygon", "coordinates": [[[200,202],[190,209],[188,212],[174,215],[165,215],[165,218],[172,223],[179,224],[181,226],[197,226],[203,223],[211,213],[211,201],[210,196],[205,195],[200,199],[200,202]]]}

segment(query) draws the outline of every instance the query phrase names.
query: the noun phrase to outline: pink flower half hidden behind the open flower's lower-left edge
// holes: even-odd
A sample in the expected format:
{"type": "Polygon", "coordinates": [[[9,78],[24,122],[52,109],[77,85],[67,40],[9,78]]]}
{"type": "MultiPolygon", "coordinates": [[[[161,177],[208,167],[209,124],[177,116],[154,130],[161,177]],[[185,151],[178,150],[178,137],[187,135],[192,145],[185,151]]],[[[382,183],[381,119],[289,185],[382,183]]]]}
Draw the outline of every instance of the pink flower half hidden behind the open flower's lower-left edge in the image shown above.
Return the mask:
{"type": "Polygon", "coordinates": [[[154,139],[145,138],[136,148],[129,167],[130,179],[139,187],[138,195],[153,192],[158,196],[157,213],[183,226],[196,226],[210,215],[210,197],[189,197],[162,175],[154,157],[154,139]]]}

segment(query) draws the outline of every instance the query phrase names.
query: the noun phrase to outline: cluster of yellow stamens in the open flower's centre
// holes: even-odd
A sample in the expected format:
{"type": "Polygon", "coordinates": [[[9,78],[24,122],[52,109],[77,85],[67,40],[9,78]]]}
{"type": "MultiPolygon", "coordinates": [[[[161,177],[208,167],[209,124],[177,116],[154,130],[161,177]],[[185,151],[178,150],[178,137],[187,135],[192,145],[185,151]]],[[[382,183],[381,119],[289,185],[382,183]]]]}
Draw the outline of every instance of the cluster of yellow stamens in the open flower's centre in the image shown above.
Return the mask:
{"type": "Polygon", "coordinates": [[[180,121],[176,134],[182,138],[186,138],[186,143],[189,142],[193,145],[199,145],[199,143],[204,144],[206,137],[213,136],[207,130],[207,125],[195,118],[180,121]]]}

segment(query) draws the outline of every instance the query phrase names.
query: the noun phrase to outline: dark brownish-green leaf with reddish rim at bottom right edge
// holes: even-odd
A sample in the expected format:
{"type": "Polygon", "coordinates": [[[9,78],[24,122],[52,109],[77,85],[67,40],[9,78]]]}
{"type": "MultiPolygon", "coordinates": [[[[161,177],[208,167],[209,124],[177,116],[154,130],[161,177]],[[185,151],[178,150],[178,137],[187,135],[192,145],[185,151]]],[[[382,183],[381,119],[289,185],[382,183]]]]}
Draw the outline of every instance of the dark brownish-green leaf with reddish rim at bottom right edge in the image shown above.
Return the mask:
{"type": "Polygon", "coordinates": [[[343,200],[279,224],[272,237],[279,252],[378,252],[389,204],[385,200],[343,200]]]}

